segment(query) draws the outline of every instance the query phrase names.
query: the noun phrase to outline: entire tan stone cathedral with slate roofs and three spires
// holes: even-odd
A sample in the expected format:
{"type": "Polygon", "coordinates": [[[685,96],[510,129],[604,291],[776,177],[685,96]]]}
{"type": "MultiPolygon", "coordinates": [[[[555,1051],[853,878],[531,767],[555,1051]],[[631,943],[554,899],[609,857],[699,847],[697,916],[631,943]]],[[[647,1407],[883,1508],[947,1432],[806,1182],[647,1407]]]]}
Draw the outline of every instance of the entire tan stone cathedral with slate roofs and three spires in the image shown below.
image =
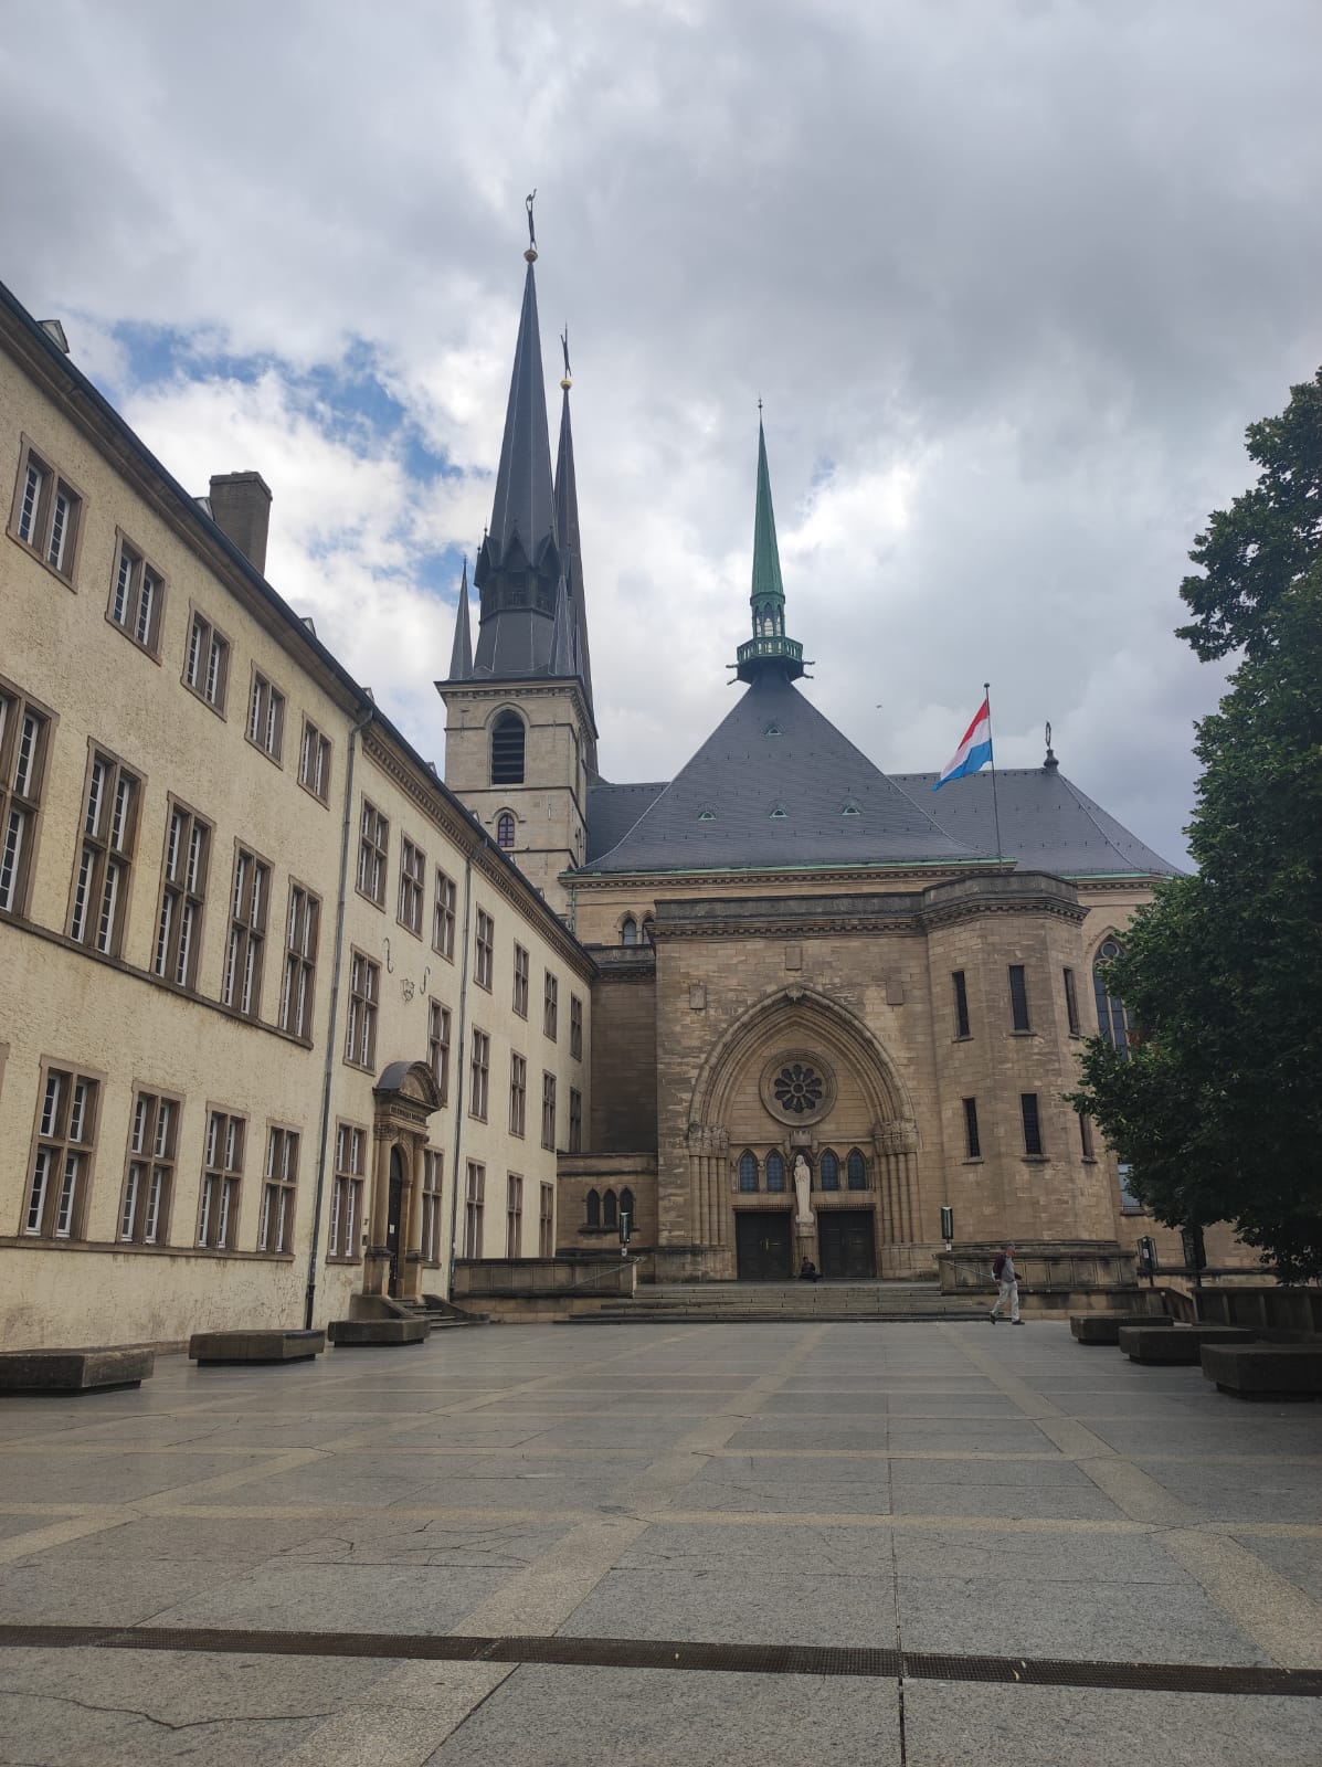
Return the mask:
{"type": "MultiPolygon", "coordinates": [[[[491,527],[460,594],[445,783],[597,967],[560,1248],[659,1281],[930,1274],[951,1240],[1133,1244],[1066,1101],[1126,1035],[1124,924],[1172,866],[1060,772],[887,776],[799,691],[758,429],[741,696],[673,779],[612,783],[594,717],[571,380],[551,466],[527,277],[491,527]]],[[[710,659],[712,668],[721,657],[710,659]]]]}

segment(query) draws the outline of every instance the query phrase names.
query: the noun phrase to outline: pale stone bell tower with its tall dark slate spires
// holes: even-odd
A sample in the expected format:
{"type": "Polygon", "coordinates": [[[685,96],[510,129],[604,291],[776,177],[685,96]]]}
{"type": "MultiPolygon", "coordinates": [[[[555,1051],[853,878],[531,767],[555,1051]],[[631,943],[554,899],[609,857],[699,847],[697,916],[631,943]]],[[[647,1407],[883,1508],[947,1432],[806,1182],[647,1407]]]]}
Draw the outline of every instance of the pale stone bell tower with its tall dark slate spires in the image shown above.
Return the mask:
{"type": "MultiPolygon", "coordinates": [[[[536,194],[536,193],[534,193],[536,194]]],[[[562,914],[560,873],[583,862],[587,783],[597,765],[578,537],[569,346],[551,477],[537,329],[537,242],[528,210],[523,311],[514,345],[491,527],[474,567],[472,643],[465,565],[445,701],[445,785],[562,914]]]]}

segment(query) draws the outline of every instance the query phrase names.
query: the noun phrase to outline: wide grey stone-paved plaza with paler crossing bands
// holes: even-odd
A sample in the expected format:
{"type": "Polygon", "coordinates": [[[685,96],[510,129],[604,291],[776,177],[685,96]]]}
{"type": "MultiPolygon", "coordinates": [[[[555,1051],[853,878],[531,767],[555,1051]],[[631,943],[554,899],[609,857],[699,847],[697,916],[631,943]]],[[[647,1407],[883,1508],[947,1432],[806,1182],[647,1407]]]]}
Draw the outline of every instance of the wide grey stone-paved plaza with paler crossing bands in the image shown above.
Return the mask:
{"type": "Polygon", "coordinates": [[[1322,1686],[1322,1407],[1057,1322],[493,1325],[0,1403],[7,1767],[1317,1767],[1280,1670],[1322,1686]]]}

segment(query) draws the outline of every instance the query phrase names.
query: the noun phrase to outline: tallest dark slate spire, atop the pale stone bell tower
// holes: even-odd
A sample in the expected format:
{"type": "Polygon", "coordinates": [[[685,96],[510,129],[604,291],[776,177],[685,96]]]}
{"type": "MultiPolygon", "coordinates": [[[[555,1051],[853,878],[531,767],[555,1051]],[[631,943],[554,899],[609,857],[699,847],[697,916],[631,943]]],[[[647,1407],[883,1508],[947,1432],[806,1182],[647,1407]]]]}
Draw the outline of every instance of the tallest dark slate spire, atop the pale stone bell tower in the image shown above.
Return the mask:
{"type": "MultiPolygon", "coordinates": [[[[528,198],[528,239],[532,240],[532,198],[528,198]]],[[[514,373],[509,382],[491,527],[474,569],[474,583],[482,597],[475,657],[479,673],[523,675],[539,661],[544,668],[555,618],[555,590],[560,581],[551,440],[537,330],[537,284],[532,274],[537,262],[536,244],[528,244],[523,256],[528,274],[523,279],[523,311],[514,345],[514,373]],[[504,634],[498,627],[511,613],[514,615],[511,633],[504,634]],[[537,615],[546,620],[544,634],[534,633],[537,615]]]]}

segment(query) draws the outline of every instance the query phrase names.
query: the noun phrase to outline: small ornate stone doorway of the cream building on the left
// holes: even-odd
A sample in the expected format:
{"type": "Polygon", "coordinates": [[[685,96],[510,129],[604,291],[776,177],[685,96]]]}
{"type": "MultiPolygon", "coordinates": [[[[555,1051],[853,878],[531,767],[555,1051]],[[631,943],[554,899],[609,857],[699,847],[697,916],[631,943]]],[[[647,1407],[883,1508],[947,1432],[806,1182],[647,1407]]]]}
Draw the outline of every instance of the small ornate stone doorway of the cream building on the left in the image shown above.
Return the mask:
{"type": "Polygon", "coordinates": [[[424,1062],[391,1062],[371,1094],[375,1159],[362,1293],[408,1301],[422,1293],[424,1154],[440,1092],[424,1062]]]}

